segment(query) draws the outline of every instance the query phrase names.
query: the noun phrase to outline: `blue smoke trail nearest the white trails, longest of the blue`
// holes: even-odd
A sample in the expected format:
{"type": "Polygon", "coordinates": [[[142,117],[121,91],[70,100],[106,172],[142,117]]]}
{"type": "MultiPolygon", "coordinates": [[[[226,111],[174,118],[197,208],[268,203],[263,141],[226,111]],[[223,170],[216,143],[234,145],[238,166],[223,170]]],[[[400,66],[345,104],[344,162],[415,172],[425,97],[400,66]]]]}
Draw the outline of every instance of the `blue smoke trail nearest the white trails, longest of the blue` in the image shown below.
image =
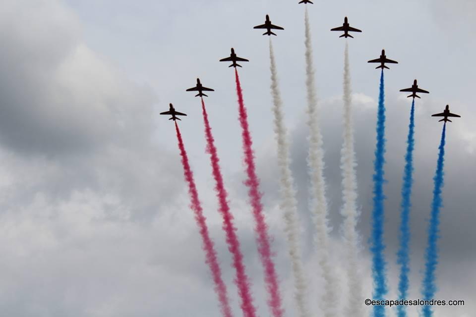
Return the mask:
{"type": "MultiPolygon", "coordinates": [[[[385,163],[385,94],[384,94],[383,69],[380,74],[380,92],[378,96],[377,114],[377,145],[375,149],[374,174],[373,174],[373,210],[372,210],[372,235],[370,251],[372,252],[372,276],[373,276],[373,298],[383,300],[387,293],[385,278],[385,259],[383,251],[383,223],[385,196],[383,194],[383,165],[385,163]]],[[[385,306],[373,306],[374,317],[385,316],[385,306]]]]}

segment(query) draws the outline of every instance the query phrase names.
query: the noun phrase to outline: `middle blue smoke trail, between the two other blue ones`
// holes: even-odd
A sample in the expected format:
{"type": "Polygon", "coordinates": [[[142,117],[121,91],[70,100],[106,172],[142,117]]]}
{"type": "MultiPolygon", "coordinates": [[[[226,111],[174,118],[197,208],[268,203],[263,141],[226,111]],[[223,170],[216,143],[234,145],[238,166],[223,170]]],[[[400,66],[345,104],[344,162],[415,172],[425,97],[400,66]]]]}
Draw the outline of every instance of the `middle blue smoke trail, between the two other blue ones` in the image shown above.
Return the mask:
{"type": "MultiPolygon", "coordinates": [[[[408,274],[410,272],[410,258],[409,258],[409,242],[410,242],[410,227],[409,227],[409,215],[410,197],[412,195],[413,185],[413,149],[415,147],[414,140],[415,132],[415,98],[412,102],[412,110],[410,110],[410,124],[408,126],[408,138],[407,138],[407,154],[405,155],[405,170],[403,174],[402,184],[402,208],[401,223],[400,223],[400,249],[397,253],[397,263],[400,264],[400,281],[398,283],[399,299],[407,299],[408,295],[408,274]]],[[[397,306],[398,317],[406,317],[407,310],[403,305],[397,306]]]]}

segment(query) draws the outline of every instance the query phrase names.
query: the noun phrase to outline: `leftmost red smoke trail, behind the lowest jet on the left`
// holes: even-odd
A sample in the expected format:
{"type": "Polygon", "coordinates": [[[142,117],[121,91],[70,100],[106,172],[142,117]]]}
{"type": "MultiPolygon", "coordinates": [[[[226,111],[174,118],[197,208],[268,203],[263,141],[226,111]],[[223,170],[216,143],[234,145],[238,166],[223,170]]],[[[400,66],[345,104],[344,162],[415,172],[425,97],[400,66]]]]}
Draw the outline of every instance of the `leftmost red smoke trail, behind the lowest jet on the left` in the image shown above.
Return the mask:
{"type": "Polygon", "coordinates": [[[182,157],[183,165],[183,175],[188,184],[188,194],[190,195],[190,208],[195,213],[195,221],[200,228],[200,235],[202,237],[203,250],[205,251],[206,263],[212,272],[213,281],[215,282],[215,292],[218,295],[218,300],[220,301],[220,309],[224,317],[233,317],[232,311],[230,309],[230,304],[228,303],[228,294],[227,287],[222,280],[222,271],[217,260],[217,253],[212,240],[208,234],[208,227],[205,222],[205,216],[202,212],[202,206],[200,200],[198,199],[197,187],[195,186],[195,181],[193,180],[193,173],[188,163],[187,152],[183,146],[182,136],[180,134],[179,126],[177,121],[175,122],[175,129],[177,131],[177,140],[179,141],[180,156],[182,157]]]}

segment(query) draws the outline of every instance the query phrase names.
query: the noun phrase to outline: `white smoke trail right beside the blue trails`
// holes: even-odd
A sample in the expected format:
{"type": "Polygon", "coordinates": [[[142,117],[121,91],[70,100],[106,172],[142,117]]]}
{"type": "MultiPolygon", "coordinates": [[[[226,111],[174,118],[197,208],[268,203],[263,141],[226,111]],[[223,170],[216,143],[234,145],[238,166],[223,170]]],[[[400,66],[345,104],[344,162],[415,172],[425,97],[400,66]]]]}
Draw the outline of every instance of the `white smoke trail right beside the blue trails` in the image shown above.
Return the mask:
{"type": "Polygon", "coordinates": [[[349,302],[345,307],[346,316],[362,317],[362,278],[358,269],[357,233],[357,177],[356,153],[354,150],[354,128],[352,121],[352,90],[349,68],[349,45],[346,42],[344,54],[344,143],[341,150],[342,197],[341,213],[344,216],[343,233],[347,253],[347,276],[349,279],[349,302]]]}

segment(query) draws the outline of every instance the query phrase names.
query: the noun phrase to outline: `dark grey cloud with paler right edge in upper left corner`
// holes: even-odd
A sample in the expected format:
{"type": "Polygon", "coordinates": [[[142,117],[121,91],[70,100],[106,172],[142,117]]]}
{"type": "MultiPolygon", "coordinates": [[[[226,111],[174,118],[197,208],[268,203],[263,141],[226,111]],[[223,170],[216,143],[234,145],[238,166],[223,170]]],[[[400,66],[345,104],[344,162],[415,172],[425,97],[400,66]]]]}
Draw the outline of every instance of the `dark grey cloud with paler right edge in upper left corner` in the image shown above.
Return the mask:
{"type": "Polygon", "coordinates": [[[10,2],[0,32],[3,144],[54,156],[150,135],[152,92],[80,43],[70,11],[10,2]]]}

